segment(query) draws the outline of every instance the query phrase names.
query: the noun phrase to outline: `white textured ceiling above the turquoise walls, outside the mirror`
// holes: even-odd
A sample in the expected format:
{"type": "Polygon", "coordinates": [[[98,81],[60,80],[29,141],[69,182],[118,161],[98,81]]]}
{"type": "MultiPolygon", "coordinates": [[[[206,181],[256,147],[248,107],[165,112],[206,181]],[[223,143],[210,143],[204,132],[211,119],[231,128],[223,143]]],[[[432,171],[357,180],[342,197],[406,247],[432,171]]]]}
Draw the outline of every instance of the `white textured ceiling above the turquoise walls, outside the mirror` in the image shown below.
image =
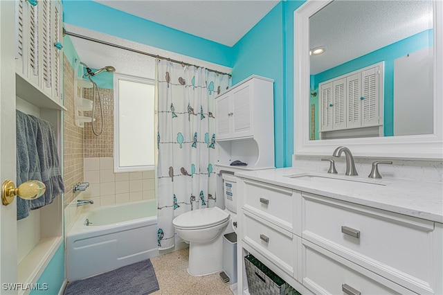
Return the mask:
{"type": "Polygon", "coordinates": [[[227,46],[237,43],[279,2],[279,0],[95,1],[227,46]]]}

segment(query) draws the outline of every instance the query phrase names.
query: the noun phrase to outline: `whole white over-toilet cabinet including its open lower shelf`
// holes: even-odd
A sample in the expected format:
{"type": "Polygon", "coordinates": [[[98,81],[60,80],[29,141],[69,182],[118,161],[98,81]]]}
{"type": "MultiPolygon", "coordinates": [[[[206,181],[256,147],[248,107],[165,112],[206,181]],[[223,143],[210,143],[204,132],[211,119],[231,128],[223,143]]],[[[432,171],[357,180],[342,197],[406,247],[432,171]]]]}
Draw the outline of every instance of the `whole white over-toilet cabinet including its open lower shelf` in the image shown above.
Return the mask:
{"type": "Polygon", "coordinates": [[[273,80],[252,75],[235,84],[215,98],[215,115],[220,166],[274,167],[273,80]]]}

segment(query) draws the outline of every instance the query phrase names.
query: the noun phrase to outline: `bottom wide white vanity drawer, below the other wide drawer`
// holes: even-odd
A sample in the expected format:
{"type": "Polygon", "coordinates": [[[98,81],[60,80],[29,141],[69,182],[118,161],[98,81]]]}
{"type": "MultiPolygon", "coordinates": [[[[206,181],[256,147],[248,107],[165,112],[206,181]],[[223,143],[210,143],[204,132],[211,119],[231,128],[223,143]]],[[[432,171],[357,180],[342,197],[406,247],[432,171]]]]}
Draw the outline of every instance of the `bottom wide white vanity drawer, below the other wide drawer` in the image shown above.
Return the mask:
{"type": "Polygon", "coordinates": [[[414,294],[307,241],[302,244],[302,261],[302,284],[315,294],[414,294]]]}

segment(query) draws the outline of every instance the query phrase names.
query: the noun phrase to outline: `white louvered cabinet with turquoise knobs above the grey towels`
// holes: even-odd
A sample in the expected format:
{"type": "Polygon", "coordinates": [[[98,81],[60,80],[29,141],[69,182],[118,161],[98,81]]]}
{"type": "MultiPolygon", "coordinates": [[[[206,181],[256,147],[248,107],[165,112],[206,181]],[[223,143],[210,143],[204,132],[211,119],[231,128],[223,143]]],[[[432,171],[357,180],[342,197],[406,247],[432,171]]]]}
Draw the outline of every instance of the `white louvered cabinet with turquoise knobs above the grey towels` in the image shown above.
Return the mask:
{"type": "MultiPolygon", "coordinates": [[[[39,96],[47,96],[55,102],[52,108],[60,108],[62,4],[59,0],[17,0],[15,17],[17,89],[32,91],[22,83],[27,82],[41,92],[39,96]]],[[[41,97],[37,99],[42,100],[41,97]]],[[[47,102],[42,103],[47,107],[47,102]]]]}

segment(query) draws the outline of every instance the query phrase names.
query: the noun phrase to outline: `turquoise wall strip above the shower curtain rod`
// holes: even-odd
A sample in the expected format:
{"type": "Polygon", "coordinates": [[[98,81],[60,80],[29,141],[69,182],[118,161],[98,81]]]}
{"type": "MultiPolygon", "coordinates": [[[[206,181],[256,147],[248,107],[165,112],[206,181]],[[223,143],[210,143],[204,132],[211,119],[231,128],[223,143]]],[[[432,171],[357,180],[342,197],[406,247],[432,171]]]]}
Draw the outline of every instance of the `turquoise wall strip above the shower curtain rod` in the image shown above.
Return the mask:
{"type": "Polygon", "coordinates": [[[233,66],[232,48],[229,46],[183,33],[91,0],[64,0],[63,21],[207,62],[233,66]]]}

